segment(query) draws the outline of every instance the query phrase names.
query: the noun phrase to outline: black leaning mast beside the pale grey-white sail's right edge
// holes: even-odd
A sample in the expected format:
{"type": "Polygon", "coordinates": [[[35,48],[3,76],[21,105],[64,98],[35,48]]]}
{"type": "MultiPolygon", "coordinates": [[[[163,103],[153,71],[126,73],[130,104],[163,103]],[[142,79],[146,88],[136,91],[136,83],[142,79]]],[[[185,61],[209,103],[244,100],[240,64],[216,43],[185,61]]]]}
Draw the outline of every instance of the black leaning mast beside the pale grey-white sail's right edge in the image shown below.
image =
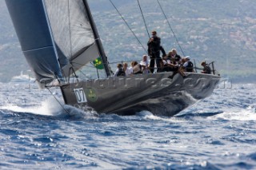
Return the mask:
{"type": "Polygon", "coordinates": [[[82,0],[82,1],[83,1],[84,5],[86,7],[86,14],[89,18],[92,30],[94,32],[95,42],[98,45],[98,50],[99,50],[99,53],[102,57],[102,61],[103,61],[103,65],[104,65],[104,68],[105,68],[105,71],[106,71],[106,75],[107,75],[107,77],[109,77],[111,75],[110,67],[108,65],[108,61],[107,61],[107,58],[106,58],[106,53],[104,52],[104,49],[103,49],[103,46],[102,46],[102,41],[101,41],[101,39],[99,38],[99,35],[98,35],[97,27],[94,23],[94,18],[92,16],[91,12],[90,12],[90,6],[88,5],[87,0],[82,0]]]}

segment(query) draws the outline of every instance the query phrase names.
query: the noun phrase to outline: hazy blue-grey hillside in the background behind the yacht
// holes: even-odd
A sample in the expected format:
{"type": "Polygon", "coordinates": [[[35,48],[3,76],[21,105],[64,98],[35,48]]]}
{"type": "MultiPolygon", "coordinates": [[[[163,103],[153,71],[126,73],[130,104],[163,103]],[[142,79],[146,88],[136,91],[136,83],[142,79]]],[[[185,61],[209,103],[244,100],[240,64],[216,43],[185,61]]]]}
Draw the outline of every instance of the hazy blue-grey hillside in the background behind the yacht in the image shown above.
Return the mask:
{"type": "MultiPolygon", "coordinates": [[[[146,53],[108,0],[89,0],[110,62],[140,60],[146,53]]],[[[136,0],[113,0],[146,47],[148,36],[136,0]]],[[[156,0],[140,0],[149,30],[157,30],[166,51],[178,49],[156,0]]],[[[182,46],[198,63],[216,61],[224,77],[256,77],[256,1],[159,0],[182,46]]],[[[28,66],[3,0],[0,0],[0,81],[9,81],[28,66]],[[11,68],[11,69],[10,69],[11,68]]],[[[256,79],[256,78],[255,78],[256,79]]]]}

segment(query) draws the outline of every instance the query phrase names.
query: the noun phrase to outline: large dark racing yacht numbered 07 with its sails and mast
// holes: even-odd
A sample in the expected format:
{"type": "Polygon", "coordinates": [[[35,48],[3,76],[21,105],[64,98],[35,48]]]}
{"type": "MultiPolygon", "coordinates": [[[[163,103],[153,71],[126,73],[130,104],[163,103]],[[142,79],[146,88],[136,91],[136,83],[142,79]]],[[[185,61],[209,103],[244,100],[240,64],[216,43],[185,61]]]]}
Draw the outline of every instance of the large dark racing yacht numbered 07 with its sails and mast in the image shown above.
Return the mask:
{"type": "Polygon", "coordinates": [[[58,85],[66,105],[121,115],[148,110],[171,117],[209,97],[218,85],[215,73],[113,77],[87,0],[6,0],[6,5],[38,85],[58,85]],[[70,82],[80,72],[92,77],[70,82]]]}

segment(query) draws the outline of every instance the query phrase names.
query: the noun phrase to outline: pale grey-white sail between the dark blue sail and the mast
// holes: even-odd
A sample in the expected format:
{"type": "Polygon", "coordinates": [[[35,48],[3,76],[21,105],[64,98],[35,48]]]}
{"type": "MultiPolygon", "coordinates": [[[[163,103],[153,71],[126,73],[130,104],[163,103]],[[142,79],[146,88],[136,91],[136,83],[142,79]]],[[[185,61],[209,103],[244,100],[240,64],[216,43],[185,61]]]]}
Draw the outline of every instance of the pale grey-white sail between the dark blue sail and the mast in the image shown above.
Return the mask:
{"type": "Polygon", "coordinates": [[[44,0],[65,77],[102,57],[82,0],[44,0]],[[72,71],[70,72],[70,68],[72,71]]]}

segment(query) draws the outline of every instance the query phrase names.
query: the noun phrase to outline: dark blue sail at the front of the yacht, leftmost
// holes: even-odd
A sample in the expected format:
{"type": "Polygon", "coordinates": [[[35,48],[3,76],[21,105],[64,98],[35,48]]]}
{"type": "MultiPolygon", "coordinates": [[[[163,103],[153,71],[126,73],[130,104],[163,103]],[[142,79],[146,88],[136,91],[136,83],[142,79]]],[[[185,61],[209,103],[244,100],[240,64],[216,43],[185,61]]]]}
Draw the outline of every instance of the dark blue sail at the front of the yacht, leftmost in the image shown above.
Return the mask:
{"type": "Polygon", "coordinates": [[[41,87],[62,72],[42,0],[6,0],[22,51],[41,87]]]}

